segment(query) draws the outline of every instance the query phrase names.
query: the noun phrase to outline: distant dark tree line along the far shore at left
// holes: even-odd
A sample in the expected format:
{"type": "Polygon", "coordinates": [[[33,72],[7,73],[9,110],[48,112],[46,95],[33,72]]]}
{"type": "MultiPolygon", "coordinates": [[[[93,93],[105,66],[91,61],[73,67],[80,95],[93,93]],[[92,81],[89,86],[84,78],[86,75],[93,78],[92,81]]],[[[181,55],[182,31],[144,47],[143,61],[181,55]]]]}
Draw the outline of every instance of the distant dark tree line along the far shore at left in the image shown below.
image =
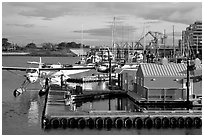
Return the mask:
{"type": "MultiPolygon", "coordinates": [[[[75,42],[61,42],[53,44],[50,42],[42,43],[37,46],[35,43],[28,43],[26,46],[19,46],[17,44],[10,43],[7,38],[2,38],[2,51],[69,51],[70,48],[82,48],[81,44],[75,42]]],[[[83,48],[90,48],[89,45],[83,45],[83,48]]]]}

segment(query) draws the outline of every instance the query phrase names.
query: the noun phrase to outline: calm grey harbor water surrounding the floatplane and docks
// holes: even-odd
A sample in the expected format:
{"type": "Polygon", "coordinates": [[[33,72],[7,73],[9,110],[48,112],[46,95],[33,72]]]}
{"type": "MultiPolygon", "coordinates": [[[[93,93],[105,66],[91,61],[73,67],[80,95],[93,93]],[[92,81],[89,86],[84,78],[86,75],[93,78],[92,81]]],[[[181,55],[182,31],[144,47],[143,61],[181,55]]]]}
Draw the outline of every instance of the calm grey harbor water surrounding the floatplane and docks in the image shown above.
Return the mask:
{"type": "MultiPolygon", "coordinates": [[[[74,64],[79,60],[78,57],[43,57],[42,62],[62,64],[74,64]]],[[[27,61],[39,61],[39,57],[29,56],[3,56],[3,66],[28,67],[27,61]]],[[[37,67],[37,66],[35,66],[37,67]]],[[[202,134],[201,129],[135,129],[122,128],[110,130],[107,129],[52,129],[49,131],[41,128],[41,117],[44,107],[44,96],[38,96],[40,84],[29,85],[27,91],[19,97],[13,96],[14,89],[18,88],[25,77],[23,72],[2,71],[2,134],[3,135],[194,135],[202,134]]],[[[86,83],[82,85],[87,89],[105,89],[105,83],[86,83]]],[[[78,110],[127,110],[134,112],[134,103],[128,98],[111,98],[104,100],[95,100],[93,102],[83,102],[78,106],[78,110]],[[118,106],[119,100],[125,102],[124,105],[118,106]],[[110,104],[110,108],[109,108],[110,104]]]]}

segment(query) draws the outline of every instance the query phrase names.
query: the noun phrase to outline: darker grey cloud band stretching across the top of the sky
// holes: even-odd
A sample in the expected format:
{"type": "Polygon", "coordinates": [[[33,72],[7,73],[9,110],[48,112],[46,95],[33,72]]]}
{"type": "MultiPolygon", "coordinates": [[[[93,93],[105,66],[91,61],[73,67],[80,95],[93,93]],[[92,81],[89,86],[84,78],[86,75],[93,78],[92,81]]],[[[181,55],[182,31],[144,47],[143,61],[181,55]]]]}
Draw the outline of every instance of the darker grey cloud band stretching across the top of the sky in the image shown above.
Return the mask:
{"type": "MultiPolygon", "coordinates": [[[[126,15],[148,20],[163,20],[190,24],[202,19],[201,2],[20,2],[6,3],[19,7],[19,14],[42,17],[45,20],[65,15],[111,15],[125,20],[126,15]]],[[[4,6],[4,5],[3,5],[4,6]]]]}

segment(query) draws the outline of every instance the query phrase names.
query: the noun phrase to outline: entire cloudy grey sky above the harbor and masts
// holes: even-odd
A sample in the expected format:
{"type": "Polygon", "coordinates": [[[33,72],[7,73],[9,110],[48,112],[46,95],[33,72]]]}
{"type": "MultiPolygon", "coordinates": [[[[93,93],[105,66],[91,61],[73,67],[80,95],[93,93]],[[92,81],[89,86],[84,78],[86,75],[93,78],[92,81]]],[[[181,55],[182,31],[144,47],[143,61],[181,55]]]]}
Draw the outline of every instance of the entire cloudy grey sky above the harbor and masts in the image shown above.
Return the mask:
{"type": "Polygon", "coordinates": [[[2,3],[2,37],[20,46],[72,41],[110,46],[112,40],[135,42],[148,31],[164,30],[172,45],[173,26],[176,44],[182,30],[201,20],[201,2],[2,3]]]}

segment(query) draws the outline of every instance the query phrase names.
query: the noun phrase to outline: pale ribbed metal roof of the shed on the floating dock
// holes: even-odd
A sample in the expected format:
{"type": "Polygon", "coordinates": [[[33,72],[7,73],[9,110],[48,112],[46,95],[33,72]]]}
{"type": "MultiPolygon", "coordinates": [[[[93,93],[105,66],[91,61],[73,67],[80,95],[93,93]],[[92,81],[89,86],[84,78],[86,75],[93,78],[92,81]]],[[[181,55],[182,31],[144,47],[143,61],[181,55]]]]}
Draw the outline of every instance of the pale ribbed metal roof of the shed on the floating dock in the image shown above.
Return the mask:
{"type": "MultiPolygon", "coordinates": [[[[144,77],[149,76],[186,76],[187,64],[182,63],[169,63],[166,65],[143,63],[140,66],[144,77]]],[[[196,70],[202,70],[202,65],[197,65],[196,70]]]]}

